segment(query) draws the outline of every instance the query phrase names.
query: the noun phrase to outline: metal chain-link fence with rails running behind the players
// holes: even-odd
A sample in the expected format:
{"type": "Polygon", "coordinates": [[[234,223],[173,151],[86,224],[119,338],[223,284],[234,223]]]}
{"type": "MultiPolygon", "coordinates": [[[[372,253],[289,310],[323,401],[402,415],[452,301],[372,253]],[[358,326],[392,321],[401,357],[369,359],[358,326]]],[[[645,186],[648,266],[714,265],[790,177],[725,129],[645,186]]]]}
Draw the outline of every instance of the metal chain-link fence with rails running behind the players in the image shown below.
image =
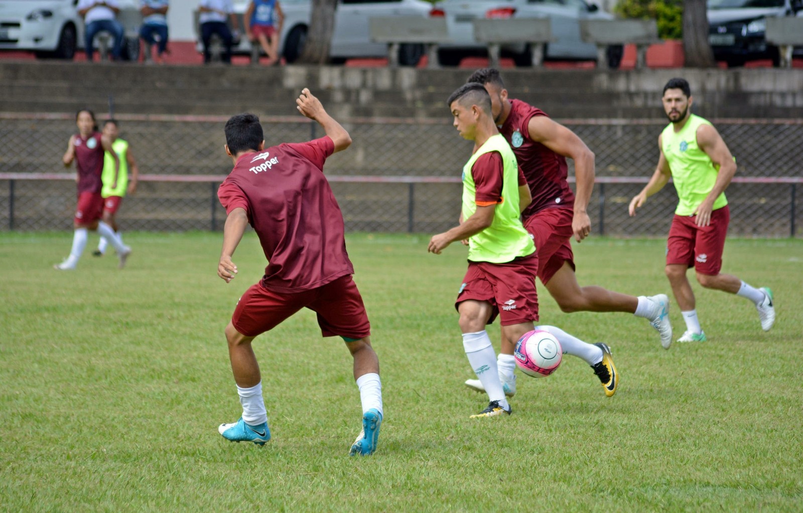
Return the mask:
{"type": "MultiPolygon", "coordinates": [[[[99,120],[103,116],[99,116],[99,120]]],[[[215,195],[231,169],[223,151],[225,117],[118,116],[120,136],[131,144],[140,181],[118,213],[125,230],[219,230],[226,216],[215,195]],[[154,176],[156,175],[156,176],[154,176]],[[184,181],[173,181],[181,179],[184,181]]],[[[263,117],[267,145],[322,136],[303,117],[263,117]]],[[[621,236],[665,235],[676,197],[671,185],[630,218],[627,205],[658,161],[662,120],[563,120],[597,156],[589,203],[594,231],[621,236]]],[[[730,233],[788,237],[801,219],[796,209],[803,169],[803,120],[713,120],[736,156],[738,178],[728,187],[730,233]],[[785,178],[791,178],[786,180],[785,178]]],[[[450,119],[346,120],[353,138],[326,164],[348,230],[444,230],[457,221],[459,184],[472,143],[450,119]]],[[[68,230],[75,185],[29,180],[37,173],[71,173],[61,156],[75,132],[71,115],[2,114],[0,230],[68,230]],[[20,173],[23,173],[22,175],[20,173]]],[[[573,173],[569,161],[570,175],[573,173]]]]}

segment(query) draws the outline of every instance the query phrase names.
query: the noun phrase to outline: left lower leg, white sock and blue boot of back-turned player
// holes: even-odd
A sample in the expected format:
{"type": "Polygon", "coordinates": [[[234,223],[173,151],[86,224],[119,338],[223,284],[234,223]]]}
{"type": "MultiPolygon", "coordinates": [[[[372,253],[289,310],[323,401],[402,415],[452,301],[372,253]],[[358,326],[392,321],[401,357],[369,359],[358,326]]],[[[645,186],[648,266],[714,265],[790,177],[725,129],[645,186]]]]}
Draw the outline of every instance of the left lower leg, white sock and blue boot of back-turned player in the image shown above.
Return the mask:
{"type": "Polygon", "coordinates": [[[238,421],[218,426],[218,433],[231,442],[254,442],[259,446],[271,439],[267,427],[267,411],[262,397],[262,377],[259,363],[251,348],[253,336],[245,336],[234,328],[226,326],[226,342],[229,344],[229,360],[243,416],[238,421]]]}

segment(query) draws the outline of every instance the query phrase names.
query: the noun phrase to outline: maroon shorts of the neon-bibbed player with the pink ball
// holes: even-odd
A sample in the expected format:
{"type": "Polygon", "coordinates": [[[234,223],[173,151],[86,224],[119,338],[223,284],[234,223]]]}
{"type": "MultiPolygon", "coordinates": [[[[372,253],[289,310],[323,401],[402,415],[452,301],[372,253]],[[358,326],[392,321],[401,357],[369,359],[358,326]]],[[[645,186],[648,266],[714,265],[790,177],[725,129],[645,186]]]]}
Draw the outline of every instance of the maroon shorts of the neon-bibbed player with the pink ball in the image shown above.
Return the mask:
{"type": "Polygon", "coordinates": [[[535,254],[508,263],[469,262],[454,307],[468,299],[487,301],[493,308],[487,324],[496,316],[503,326],[537,321],[537,273],[535,254]]]}

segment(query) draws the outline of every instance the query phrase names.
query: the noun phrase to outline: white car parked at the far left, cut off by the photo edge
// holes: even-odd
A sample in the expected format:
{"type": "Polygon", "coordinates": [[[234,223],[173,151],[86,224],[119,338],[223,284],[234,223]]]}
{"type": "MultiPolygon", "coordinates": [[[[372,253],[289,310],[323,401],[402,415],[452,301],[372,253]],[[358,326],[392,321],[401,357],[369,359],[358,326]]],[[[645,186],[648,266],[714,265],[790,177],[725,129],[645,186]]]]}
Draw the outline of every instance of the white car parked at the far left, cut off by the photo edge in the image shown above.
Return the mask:
{"type": "Polygon", "coordinates": [[[35,51],[37,57],[72,59],[84,38],[84,22],[75,11],[75,2],[2,0],[0,50],[35,51]]]}

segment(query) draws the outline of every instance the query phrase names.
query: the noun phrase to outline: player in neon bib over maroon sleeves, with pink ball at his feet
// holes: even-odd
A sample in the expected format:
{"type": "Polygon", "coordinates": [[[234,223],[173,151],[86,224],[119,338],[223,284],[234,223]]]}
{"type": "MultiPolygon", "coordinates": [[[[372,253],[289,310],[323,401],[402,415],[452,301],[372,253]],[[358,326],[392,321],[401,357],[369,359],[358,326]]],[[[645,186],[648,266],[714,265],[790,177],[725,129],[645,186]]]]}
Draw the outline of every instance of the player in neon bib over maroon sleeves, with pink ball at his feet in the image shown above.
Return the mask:
{"type": "MultiPolygon", "coordinates": [[[[494,124],[487,91],[479,83],[467,83],[447,103],[460,135],[475,141],[475,152],[463,166],[463,222],[433,235],[427,250],[441,254],[450,243],[468,239],[468,271],[454,306],[460,314],[466,356],[490,400],[486,409],[471,417],[509,415],[512,408],[485,326],[499,316],[508,340],[519,340],[534,329],[538,255],[520,221],[516,156],[494,124]]],[[[524,187],[525,195],[526,191],[524,187]]],[[[554,326],[538,329],[552,333],[565,353],[591,365],[606,396],[616,393],[619,377],[608,346],[586,344],[554,326]]]]}

